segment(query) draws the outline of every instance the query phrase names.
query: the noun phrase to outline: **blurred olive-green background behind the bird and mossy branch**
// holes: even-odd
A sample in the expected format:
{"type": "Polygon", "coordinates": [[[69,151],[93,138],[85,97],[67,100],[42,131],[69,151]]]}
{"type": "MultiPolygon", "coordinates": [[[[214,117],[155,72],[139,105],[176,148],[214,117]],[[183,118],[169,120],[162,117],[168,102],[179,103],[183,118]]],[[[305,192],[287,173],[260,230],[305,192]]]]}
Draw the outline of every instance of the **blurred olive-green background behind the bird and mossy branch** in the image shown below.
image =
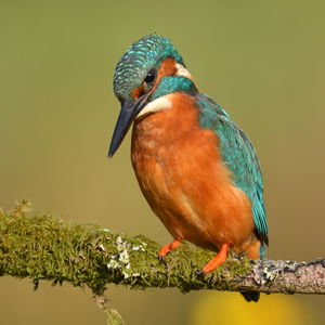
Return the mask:
{"type": "MultiPolygon", "coordinates": [[[[183,55],[198,88],[257,147],[265,181],[269,257],[324,257],[325,2],[0,1],[0,206],[113,231],[170,236],[147,207],[130,138],[106,153],[119,104],[115,65],[156,31],[183,55]]],[[[0,278],[0,323],[104,324],[88,290],[0,278]]],[[[107,295],[127,324],[321,324],[324,297],[134,291],[107,295]]]]}

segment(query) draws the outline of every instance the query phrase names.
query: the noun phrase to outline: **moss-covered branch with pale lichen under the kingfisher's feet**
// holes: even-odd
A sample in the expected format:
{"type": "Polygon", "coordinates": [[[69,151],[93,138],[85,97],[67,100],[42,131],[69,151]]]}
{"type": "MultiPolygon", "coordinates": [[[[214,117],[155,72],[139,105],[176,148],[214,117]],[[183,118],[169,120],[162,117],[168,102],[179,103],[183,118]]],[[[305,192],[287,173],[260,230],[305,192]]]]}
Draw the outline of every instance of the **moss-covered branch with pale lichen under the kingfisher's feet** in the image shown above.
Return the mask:
{"type": "Polygon", "coordinates": [[[0,211],[0,275],[69,282],[102,295],[109,283],[131,288],[177,287],[259,291],[265,294],[325,294],[325,260],[311,262],[257,260],[231,256],[213,273],[198,270],[213,257],[182,244],[166,263],[159,246],[142,236],[115,234],[93,224],[66,224],[50,214],[26,213],[18,205],[0,211]]]}

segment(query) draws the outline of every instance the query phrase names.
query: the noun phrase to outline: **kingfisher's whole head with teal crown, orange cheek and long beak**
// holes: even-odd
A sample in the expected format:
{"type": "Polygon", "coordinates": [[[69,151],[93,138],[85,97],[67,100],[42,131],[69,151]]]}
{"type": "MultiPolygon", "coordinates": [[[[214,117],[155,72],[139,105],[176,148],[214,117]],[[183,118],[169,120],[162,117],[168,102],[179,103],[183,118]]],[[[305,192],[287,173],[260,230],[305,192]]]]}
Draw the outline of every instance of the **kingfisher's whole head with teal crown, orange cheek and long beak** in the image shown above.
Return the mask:
{"type": "Polygon", "coordinates": [[[112,138],[112,157],[135,118],[166,109],[164,96],[172,92],[195,94],[197,89],[183,58],[171,41],[156,34],[133,43],[116,66],[114,92],[121,109],[112,138]]]}

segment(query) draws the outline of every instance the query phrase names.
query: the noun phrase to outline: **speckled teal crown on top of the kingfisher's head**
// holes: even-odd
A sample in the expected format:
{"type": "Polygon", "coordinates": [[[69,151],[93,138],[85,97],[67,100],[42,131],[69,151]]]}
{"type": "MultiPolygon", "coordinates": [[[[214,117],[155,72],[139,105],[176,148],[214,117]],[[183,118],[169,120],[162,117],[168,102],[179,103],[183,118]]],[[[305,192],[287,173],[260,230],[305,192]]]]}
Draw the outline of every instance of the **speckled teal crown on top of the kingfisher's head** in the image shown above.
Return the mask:
{"type": "Polygon", "coordinates": [[[141,86],[147,72],[168,56],[184,65],[171,41],[162,36],[151,34],[133,43],[116,66],[114,92],[130,99],[130,91],[141,86]]]}

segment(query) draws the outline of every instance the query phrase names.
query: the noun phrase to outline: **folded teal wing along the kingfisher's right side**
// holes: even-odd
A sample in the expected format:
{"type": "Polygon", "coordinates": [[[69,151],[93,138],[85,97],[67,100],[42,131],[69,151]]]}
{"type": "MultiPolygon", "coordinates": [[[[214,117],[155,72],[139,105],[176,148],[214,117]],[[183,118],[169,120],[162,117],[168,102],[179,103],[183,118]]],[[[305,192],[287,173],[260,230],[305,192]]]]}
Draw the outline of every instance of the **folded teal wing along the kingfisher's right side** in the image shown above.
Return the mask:
{"type": "Polygon", "coordinates": [[[224,164],[232,172],[234,184],[250,198],[256,234],[262,244],[269,243],[263,202],[263,180],[255,148],[245,133],[225,110],[207,95],[197,95],[200,126],[213,130],[220,140],[224,164]]]}

